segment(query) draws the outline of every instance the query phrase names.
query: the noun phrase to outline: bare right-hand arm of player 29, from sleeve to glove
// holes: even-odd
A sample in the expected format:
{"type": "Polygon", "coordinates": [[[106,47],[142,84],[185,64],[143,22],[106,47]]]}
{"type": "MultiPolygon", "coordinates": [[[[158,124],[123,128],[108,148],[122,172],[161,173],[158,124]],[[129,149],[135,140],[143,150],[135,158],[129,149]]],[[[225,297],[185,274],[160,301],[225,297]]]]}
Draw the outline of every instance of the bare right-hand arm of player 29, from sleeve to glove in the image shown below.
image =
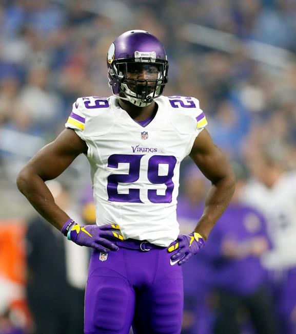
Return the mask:
{"type": "Polygon", "coordinates": [[[215,222],[230,202],[235,188],[235,177],[226,156],[213,143],[206,129],[196,137],[189,156],[212,183],[206,197],[204,213],[194,229],[207,239],[215,222]]]}

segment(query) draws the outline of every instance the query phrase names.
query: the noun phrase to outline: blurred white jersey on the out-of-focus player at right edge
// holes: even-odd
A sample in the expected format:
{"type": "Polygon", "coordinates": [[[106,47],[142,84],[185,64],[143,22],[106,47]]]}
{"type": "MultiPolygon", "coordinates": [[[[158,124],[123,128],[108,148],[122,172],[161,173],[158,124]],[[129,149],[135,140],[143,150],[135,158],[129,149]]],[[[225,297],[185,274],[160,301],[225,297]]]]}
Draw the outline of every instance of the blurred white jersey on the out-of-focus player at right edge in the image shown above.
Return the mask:
{"type": "Polygon", "coordinates": [[[253,181],[242,196],[249,205],[262,212],[267,220],[273,244],[263,257],[268,269],[282,270],[296,265],[296,173],[289,172],[272,188],[253,181]]]}

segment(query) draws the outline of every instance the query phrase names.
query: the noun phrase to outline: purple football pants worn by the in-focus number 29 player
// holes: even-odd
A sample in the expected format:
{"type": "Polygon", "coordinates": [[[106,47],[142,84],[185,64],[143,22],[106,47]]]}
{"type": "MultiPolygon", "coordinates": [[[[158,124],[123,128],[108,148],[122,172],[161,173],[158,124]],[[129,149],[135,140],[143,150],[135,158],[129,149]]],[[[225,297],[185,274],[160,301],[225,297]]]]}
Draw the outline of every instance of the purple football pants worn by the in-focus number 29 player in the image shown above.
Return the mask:
{"type": "Polygon", "coordinates": [[[85,294],[85,334],[180,334],[183,276],[166,248],[116,242],[119,251],[93,250],[85,294]],[[133,248],[133,249],[131,249],[133,248]]]}

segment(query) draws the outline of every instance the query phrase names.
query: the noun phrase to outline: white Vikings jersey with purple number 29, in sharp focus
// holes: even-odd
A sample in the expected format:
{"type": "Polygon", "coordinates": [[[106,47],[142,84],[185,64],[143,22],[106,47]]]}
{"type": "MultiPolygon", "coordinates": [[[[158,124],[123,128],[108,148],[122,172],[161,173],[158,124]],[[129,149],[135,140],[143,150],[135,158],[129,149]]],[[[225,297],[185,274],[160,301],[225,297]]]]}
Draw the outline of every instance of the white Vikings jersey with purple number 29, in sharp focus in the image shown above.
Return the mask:
{"type": "Polygon", "coordinates": [[[79,98],[66,127],[88,146],[96,224],[117,224],[125,239],[166,247],[179,234],[180,163],[207,121],[195,98],[155,101],[157,113],[143,127],[114,96],[79,98]]]}

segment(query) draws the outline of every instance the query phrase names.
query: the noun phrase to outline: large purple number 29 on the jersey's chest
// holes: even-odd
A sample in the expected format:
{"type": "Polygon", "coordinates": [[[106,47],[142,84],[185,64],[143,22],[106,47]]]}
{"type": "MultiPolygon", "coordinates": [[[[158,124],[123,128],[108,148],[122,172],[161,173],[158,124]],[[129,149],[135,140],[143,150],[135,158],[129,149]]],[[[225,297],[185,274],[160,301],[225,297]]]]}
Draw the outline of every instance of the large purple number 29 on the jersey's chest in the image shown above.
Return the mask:
{"type": "MultiPolygon", "coordinates": [[[[121,183],[133,183],[139,179],[141,159],[143,155],[113,154],[108,159],[108,167],[118,168],[119,163],[129,163],[128,174],[111,174],[108,176],[108,200],[112,202],[143,203],[140,199],[140,189],[129,189],[128,194],[119,194],[117,187],[121,183]]],[[[165,195],[157,195],[156,190],[148,189],[148,199],[152,203],[170,203],[174,184],[172,177],[176,164],[174,156],[154,155],[148,160],[147,177],[152,184],[165,184],[165,195]],[[168,165],[167,175],[159,175],[159,165],[168,165]]]]}

